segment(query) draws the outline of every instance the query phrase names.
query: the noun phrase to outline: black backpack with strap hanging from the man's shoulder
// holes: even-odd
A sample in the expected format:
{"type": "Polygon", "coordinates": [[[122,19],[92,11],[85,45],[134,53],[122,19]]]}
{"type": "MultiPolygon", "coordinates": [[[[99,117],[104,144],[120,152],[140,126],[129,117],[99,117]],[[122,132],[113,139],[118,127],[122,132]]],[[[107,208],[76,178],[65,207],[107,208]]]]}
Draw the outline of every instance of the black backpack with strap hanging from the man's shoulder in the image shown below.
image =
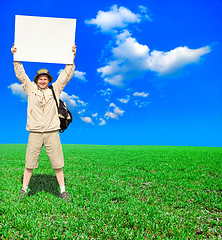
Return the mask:
{"type": "Polygon", "coordinates": [[[60,120],[59,132],[63,133],[68,128],[69,124],[72,122],[72,114],[67,109],[66,104],[61,99],[59,99],[59,105],[58,105],[53,86],[50,85],[49,88],[52,90],[52,94],[55,99],[56,106],[58,108],[58,114],[59,114],[59,120],[60,120]]]}

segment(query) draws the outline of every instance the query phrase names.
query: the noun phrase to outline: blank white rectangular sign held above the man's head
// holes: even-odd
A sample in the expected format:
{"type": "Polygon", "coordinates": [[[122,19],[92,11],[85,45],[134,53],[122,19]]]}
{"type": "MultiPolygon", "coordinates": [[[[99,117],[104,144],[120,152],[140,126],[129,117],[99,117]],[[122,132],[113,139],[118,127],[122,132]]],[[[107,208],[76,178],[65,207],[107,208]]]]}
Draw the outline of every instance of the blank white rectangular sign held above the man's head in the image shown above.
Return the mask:
{"type": "Polygon", "coordinates": [[[15,16],[15,61],[73,63],[76,19],[15,16]]]}

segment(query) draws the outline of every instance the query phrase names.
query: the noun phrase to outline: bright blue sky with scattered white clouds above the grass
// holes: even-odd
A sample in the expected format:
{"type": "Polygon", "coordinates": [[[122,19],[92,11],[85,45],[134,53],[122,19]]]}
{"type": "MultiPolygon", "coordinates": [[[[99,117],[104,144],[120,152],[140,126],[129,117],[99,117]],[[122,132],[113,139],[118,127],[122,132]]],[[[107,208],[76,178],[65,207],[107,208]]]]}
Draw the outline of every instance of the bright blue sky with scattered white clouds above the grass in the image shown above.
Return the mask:
{"type": "MultiPolygon", "coordinates": [[[[0,1],[0,143],[27,143],[10,52],[15,15],[77,19],[76,72],[61,98],[62,143],[221,147],[222,1],[0,1]]],[[[36,37],[41,37],[37,34],[36,37]]],[[[64,65],[23,62],[34,79],[64,65]]]]}

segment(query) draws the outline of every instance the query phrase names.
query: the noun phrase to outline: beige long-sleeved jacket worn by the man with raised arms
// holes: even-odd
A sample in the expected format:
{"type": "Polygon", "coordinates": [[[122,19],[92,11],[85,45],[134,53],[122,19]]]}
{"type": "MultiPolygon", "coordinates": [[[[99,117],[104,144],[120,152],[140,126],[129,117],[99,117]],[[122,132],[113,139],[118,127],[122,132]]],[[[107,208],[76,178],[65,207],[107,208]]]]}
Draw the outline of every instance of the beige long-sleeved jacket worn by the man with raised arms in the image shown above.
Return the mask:
{"type": "MultiPolygon", "coordinates": [[[[60,129],[60,121],[52,90],[40,89],[36,83],[31,82],[26,75],[22,63],[14,62],[15,75],[22,83],[25,93],[28,95],[27,125],[26,129],[31,132],[51,132],[60,129]]],[[[59,96],[72,78],[75,65],[67,64],[53,83],[57,101],[59,96]]]]}

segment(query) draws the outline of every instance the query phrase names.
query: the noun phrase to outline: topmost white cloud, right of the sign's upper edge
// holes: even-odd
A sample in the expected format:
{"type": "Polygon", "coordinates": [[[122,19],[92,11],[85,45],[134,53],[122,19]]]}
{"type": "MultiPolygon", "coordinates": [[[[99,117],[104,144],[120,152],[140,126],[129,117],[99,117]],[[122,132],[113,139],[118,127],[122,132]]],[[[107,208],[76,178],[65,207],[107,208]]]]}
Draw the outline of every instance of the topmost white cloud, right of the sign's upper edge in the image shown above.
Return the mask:
{"type": "Polygon", "coordinates": [[[96,18],[86,20],[86,24],[96,25],[102,32],[113,32],[115,29],[125,28],[130,23],[141,21],[140,14],[134,14],[125,7],[114,5],[110,11],[99,11],[96,18]]]}

